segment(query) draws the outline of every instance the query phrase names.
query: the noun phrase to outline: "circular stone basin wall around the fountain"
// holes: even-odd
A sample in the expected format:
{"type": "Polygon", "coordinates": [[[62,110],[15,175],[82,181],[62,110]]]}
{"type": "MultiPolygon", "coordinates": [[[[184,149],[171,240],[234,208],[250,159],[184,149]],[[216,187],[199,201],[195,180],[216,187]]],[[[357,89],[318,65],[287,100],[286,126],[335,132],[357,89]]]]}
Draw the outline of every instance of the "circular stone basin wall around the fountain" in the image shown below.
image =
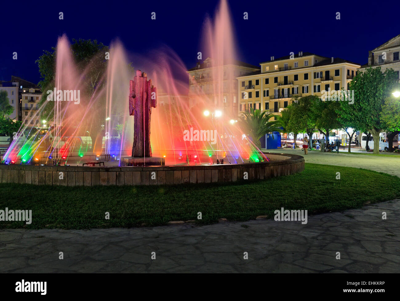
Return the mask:
{"type": "Polygon", "coordinates": [[[2,183],[35,185],[163,185],[224,183],[268,179],[304,170],[304,157],[292,154],[264,154],[270,161],[241,164],[173,166],[53,166],[0,165],[2,183]]]}

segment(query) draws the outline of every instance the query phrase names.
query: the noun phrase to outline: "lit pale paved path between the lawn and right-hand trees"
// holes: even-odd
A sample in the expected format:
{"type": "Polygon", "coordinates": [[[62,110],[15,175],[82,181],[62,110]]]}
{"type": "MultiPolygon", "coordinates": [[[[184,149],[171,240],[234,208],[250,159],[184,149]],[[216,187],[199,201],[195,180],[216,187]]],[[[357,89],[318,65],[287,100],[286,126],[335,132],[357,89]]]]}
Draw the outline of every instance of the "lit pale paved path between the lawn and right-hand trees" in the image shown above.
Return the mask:
{"type": "Polygon", "coordinates": [[[356,168],[370,169],[374,171],[382,171],[391,175],[400,177],[400,156],[385,157],[362,155],[362,154],[346,154],[346,153],[322,153],[320,151],[308,151],[308,155],[304,155],[301,150],[280,149],[265,150],[272,153],[293,153],[304,156],[306,163],[339,165],[356,168]]]}

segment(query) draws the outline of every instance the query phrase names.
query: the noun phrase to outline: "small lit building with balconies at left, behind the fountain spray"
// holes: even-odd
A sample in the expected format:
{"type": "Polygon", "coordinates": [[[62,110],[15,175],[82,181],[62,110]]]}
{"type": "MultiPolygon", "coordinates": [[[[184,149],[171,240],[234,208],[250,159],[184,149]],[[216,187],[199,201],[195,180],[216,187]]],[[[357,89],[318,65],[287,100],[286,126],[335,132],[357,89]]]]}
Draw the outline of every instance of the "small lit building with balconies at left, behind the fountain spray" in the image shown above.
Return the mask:
{"type": "Polygon", "coordinates": [[[39,103],[42,99],[40,88],[22,88],[22,124],[28,126],[41,126],[39,103]]]}

